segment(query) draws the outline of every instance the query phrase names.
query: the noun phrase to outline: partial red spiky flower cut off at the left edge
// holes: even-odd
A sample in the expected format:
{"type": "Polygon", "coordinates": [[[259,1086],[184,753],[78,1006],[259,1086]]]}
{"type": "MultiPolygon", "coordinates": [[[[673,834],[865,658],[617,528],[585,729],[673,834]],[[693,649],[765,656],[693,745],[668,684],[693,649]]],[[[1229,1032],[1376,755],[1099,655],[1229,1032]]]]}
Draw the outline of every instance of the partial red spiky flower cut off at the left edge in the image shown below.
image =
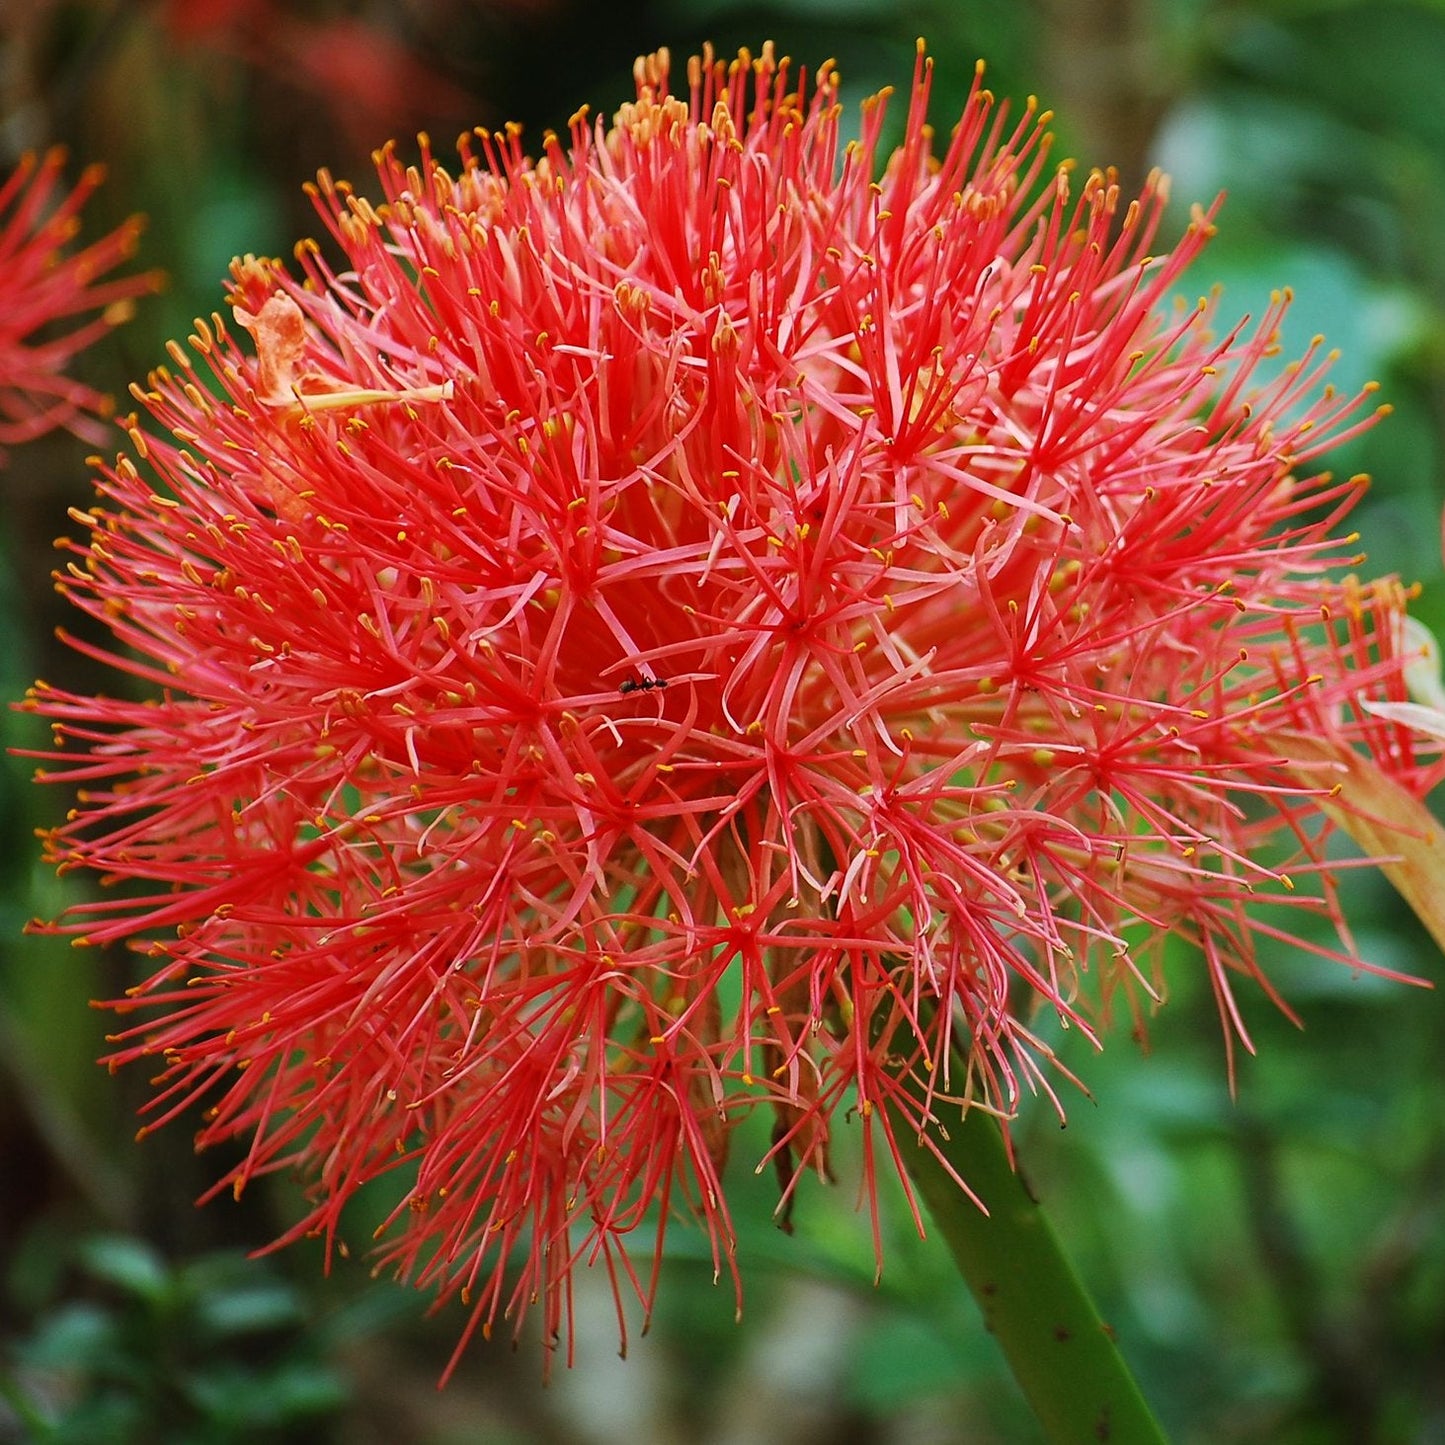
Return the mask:
{"type": "Polygon", "coordinates": [[[64,165],[58,149],[43,160],[27,155],[0,185],[0,448],[55,426],[88,441],[105,435],[90,419],[107,410],[105,397],[68,377],[65,367],[129,319],[133,298],[158,285],[156,275],[98,280],[134,253],[139,220],[66,254],[103,171],[92,166],[74,191],[58,195],[64,165]],[[69,331],[53,325],[77,316],[87,319],[69,331]]]}

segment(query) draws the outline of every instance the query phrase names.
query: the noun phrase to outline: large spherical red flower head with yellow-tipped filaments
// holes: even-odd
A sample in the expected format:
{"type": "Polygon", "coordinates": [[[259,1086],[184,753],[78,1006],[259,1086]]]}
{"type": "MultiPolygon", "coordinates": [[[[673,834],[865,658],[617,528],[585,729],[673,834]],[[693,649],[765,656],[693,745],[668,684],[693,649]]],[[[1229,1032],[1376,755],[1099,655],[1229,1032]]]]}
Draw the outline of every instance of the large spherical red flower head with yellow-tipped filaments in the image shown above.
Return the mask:
{"type": "Polygon", "coordinates": [[[1175,302],[1160,178],[1049,173],[981,79],[935,153],[929,79],[886,160],[764,48],[322,175],[342,266],[238,262],[77,514],[153,695],[32,705],[53,858],[126,884],[58,926],[153,959],[147,1127],[204,1098],[328,1240],[393,1173],[383,1264],[486,1331],[582,1263],[650,1303],[679,1211],[736,1276],[759,1105],[785,1218],[842,1129],[876,1198],[900,1129],[1052,1092],[1049,1029],[1142,1023],[1170,935],[1247,1043],[1256,905],[1353,958],[1328,749],[1439,775],[1403,590],[1331,579],[1364,399],[1266,366],[1287,298],[1175,302]]]}

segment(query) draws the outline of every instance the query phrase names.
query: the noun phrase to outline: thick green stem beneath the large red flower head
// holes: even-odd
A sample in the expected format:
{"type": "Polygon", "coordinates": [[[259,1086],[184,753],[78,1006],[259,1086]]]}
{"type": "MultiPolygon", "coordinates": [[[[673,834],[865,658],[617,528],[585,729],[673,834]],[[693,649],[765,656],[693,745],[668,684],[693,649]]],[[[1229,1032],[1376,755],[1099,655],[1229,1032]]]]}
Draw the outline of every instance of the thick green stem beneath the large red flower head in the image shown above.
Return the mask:
{"type": "Polygon", "coordinates": [[[896,1113],[893,1126],[909,1176],[1052,1445],[1162,1445],[1113,1331],[1012,1168],[998,1121],[972,1108],[946,1134],[933,1133],[987,1214],[896,1113]]]}

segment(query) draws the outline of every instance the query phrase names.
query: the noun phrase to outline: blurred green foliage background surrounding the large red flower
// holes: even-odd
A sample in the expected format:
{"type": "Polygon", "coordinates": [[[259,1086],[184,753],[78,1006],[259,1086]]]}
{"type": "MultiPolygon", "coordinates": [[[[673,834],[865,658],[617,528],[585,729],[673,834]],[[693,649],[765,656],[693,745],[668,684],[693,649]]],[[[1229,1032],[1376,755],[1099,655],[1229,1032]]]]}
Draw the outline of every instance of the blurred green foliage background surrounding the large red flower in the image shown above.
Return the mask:
{"type": "MultiPolygon", "coordinates": [[[[855,101],[906,84],[918,35],[938,59],[941,129],[983,55],[997,92],[1058,111],[1061,153],[1126,185],[1168,169],[1175,227],[1189,201],[1228,191],[1194,288],[1221,282],[1225,314],[1257,314],[1293,286],[1286,351],[1324,332],[1341,384],[1383,384],[1393,419],[1332,461],[1376,477],[1357,513],[1370,568],[1420,581],[1420,616],[1445,627],[1439,0],[4,0],[0,168],[61,140],[77,171],[110,171],[88,234],[149,215],[137,264],[163,267],[169,290],[84,358],[124,396],[220,305],[234,253],[289,254],[315,230],[301,185],[321,165],[364,191],[387,136],[425,127],[441,150],[474,123],[536,137],[582,101],[610,113],[633,56],[663,43],[727,53],[773,38],[809,65],[837,56],[855,101]]],[[[88,497],[85,451],[52,436],[0,473],[7,698],[38,675],[98,683],[56,644],[49,585],[51,539],[88,497]]],[[[43,740],[23,715],[0,727],[10,746],[43,740]]],[[[146,1081],[95,1068],[105,1020],[87,1007],[126,985],[129,961],[20,935],[65,899],[32,837],[65,801],[27,775],[14,759],[0,773],[0,1442],[1038,1438],[902,1201],[874,1287],[848,1160],[838,1186],[803,1191],[786,1238],[746,1142],[730,1179],[741,1325],[679,1228],[626,1363],[605,1285],[584,1280],[574,1370],[543,1389],[530,1345],[477,1345],[438,1393],[460,1309],[428,1321],[423,1296],[373,1285],[358,1259],[322,1277],[309,1246],[247,1261],[293,1218],[293,1185],[195,1209],[221,1163],[192,1157],[186,1126],[131,1142],[146,1081]]],[[[1387,884],[1361,873],[1347,893],[1368,958],[1445,978],[1387,884]]],[[[1179,1442],[1445,1442],[1445,1001],[1270,958],[1305,1029],[1251,998],[1259,1056],[1240,1059],[1231,1100],[1201,971],[1182,949],[1170,962],[1149,1049],[1126,1030],[1098,1058],[1062,1040],[1094,1100],[1069,1101],[1065,1131],[1046,1108],[1020,1130],[1146,1394],[1179,1442]]]]}

